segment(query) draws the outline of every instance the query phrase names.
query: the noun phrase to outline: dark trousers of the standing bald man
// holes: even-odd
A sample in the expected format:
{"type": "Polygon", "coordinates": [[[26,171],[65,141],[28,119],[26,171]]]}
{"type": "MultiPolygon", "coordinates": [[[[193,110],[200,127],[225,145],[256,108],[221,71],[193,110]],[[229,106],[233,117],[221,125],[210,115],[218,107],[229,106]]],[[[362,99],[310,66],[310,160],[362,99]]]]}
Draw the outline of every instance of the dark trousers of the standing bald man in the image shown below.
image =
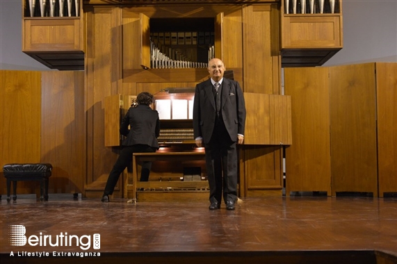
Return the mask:
{"type": "Polygon", "coordinates": [[[209,201],[220,203],[237,199],[238,158],[236,142],[232,141],[223,122],[219,122],[208,144],[204,144],[209,201]]]}

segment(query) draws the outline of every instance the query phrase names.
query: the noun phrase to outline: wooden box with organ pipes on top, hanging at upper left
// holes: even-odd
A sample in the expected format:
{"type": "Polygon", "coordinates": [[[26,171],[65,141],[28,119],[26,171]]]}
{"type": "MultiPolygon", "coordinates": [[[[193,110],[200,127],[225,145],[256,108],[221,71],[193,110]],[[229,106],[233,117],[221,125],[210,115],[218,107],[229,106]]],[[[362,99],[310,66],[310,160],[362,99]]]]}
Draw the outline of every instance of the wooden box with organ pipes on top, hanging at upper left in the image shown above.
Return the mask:
{"type": "Polygon", "coordinates": [[[83,25],[82,0],[23,0],[22,51],[50,69],[83,70],[83,25]]]}

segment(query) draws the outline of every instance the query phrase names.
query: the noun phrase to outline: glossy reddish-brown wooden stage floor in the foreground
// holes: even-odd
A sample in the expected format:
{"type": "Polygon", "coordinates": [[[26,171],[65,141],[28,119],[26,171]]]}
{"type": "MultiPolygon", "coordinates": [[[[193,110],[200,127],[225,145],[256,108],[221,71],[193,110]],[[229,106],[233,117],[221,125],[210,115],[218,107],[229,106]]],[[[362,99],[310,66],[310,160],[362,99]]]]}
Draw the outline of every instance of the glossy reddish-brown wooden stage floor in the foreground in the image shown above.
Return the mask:
{"type": "Polygon", "coordinates": [[[44,202],[20,195],[7,203],[3,195],[1,263],[397,263],[396,197],[260,197],[239,200],[235,211],[208,206],[104,204],[72,195],[44,202]],[[42,245],[12,244],[12,225],[24,226],[25,237],[42,245]],[[44,246],[44,236],[55,245],[66,233],[77,237],[74,245],[47,240],[44,246]],[[100,249],[93,249],[95,233],[100,249]],[[33,252],[49,256],[26,256],[33,252]],[[67,256],[87,252],[100,256],[67,256]]]}

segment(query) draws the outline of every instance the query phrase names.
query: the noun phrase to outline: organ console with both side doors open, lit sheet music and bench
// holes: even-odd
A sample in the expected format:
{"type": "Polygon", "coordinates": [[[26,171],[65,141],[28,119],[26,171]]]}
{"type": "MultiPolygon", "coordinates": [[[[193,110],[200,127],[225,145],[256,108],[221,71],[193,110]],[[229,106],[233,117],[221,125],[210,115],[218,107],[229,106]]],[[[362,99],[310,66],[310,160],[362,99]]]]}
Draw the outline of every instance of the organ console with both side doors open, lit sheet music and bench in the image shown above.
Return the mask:
{"type": "MultiPolygon", "coordinates": [[[[244,96],[248,113],[245,145],[291,144],[291,98],[276,94],[244,96]]],[[[154,94],[152,107],[159,111],[161,119],[160,149],[156,154],[134,154],[132,175],[127,173],[124,185],[125,197],[138,201],[209,198],[204,149],[195,147],[193,137],[193,97],[194,88],[171,88],[154,94]],[[137,181],[143,160],[153,162],[147,183],[137,181]]],[[[108,147],[120,144],[120,117],[127,113],[134,98],[120,94],[105,98],[108,147]]]]}

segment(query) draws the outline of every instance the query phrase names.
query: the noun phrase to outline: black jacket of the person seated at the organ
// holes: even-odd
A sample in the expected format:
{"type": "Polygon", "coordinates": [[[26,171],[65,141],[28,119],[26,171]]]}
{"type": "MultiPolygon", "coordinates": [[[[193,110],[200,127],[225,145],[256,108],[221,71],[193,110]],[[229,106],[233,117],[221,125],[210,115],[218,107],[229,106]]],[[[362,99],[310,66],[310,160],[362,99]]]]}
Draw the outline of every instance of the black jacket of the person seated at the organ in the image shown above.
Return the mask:
{"type": "Polygon", "coordinates": [[[120,133],[127,136],[122,142],[123,146],[141,144],[159,149],[157,142],[160,135],[159,113],[145,105],[129,108],[122,119],[120,133]]]}

